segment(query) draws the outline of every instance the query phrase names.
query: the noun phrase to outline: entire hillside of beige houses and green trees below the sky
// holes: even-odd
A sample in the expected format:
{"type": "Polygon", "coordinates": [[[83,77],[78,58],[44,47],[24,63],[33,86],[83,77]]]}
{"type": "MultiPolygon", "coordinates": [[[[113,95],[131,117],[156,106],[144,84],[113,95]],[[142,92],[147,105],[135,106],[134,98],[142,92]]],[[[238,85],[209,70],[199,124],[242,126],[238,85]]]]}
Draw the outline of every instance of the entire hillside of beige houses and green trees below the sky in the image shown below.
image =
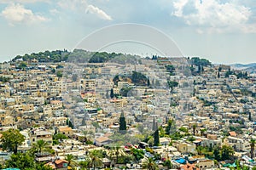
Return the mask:
{"type": "Polygon", "coordinates": [[[0,64],[0,167],[256,169],[256,75],[76,49],[0,64]]]}

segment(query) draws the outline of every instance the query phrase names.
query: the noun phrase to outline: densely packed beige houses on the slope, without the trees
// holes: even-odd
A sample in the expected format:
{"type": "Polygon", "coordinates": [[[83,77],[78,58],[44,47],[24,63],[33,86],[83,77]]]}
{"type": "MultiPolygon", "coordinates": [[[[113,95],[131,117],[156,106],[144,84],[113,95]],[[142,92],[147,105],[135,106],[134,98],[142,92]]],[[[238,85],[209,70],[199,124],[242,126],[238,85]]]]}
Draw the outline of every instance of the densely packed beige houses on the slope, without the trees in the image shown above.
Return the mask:
{"type": "MultiPolygon", "coordinates": [[[[184,59],[141,60],[140,64],[121,65],[46,64],[33,59],[22,69],[17,67],[23,61],[3,63],[0,77],[8,81],[0,82],[0,130],[20,129],[26,137],[18,148],[20,152],[43,139],[55,154],[37,156],[36,160],[48,161],[54,169],[67,169],[67,154],[84,159],[88,151],[113,144],[111,136],[119,130],[119,116],[123,112],[131,136],[143,134],[138,127],[152,131],[154,119],[159,127],[175,120],[177,130],[185,127],[194,133],[193,142],[162,137],[160,146],[153,148],[154,153],[172,160],[177,168],[219,166],[205,156],[198,156],[198,145],[230,145],[239,159],[254,165],[245,156],[250,156],[250,140],[256,139],[255,75],[238,78],[236,75],[241,71],[227,74],[228,65],[205,66],[203,71],[192,74],[188,71],[191,65],[184,59]],[[174,65],[175,74],[166,71],[166,65],[174,65]],[[123,78],[133,71],[143,73],[149,83],[137,86],[123,78]],[[119,82],[113,82],[113,77],[119,77],[119,82]],[[178,82],[177,87],[171,91],[168,81],[178,82]],[[202,133],[202,129],[206,130],[202,133]],[[65,134],[69,139],[53,144],[55,133],[65,134]],[[85,144],[84,139],[93,144],[85,144]]],[[[0,159],[9,159],[9,154],[0,153],[0,159]]],[[[104,163],[107,166],[109,160],[104,163]]],[[[134,169],[142,168],[139,163],[136,166],[134,169]]],[[[128,167],[132,169],[131,165],[128,167]]]]}

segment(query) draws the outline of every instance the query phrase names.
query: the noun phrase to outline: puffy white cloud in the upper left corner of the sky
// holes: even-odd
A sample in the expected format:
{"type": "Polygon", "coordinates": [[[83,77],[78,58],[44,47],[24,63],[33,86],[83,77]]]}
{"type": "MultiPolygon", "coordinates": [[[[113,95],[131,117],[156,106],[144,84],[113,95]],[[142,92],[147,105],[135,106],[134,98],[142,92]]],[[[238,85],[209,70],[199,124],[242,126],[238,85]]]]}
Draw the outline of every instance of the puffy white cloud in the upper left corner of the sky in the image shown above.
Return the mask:
{"type": "Polygon", "coordinates": [[[31,24],[48,20],[40,14],[34,14],[32,10],[24,8],[23,5],[12,3],[4,8],[1,15],[8,20],[9,25],[15,26],[18,23],[31,24]]]}

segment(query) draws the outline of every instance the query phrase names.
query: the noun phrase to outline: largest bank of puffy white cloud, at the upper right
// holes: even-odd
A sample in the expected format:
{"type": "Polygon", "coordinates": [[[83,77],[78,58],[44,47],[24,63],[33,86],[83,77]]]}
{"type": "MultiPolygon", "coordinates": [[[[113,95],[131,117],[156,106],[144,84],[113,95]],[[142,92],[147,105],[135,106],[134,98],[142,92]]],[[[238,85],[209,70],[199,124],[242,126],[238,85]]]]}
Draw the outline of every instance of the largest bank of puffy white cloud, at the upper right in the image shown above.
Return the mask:
{"type": "MultiPolygon", "coordinates": [[[[218,0],[178,0],[173,7],[173,15],[185,20],[189,26],[199,26],[200,32],[248,32],[247,22],[252,15],[251,9],[241,4],[218,0]],[[186,14],[185,8],[189,8],[189,13],[186,14]]],[[[253,26],[250,27],[252,31],[253,26]]]]}

